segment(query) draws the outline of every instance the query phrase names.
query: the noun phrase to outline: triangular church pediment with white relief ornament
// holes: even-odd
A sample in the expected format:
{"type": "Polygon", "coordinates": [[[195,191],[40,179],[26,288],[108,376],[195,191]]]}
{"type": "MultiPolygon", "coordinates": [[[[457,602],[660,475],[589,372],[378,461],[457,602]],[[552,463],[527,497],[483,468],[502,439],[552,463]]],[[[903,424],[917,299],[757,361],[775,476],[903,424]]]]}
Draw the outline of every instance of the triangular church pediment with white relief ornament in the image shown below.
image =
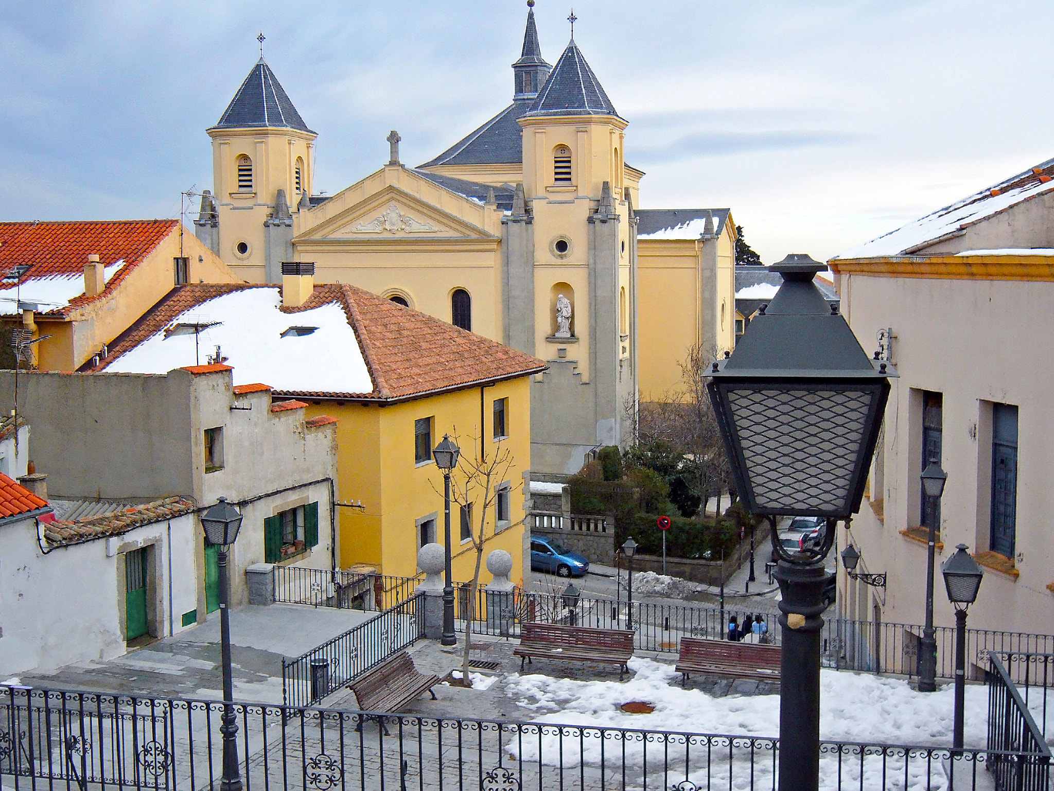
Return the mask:
{"type": "Polygon", "coordinates": [[[298,238],[482,238],[488,234],[440,207],[394,187],[349,207],[298,238]]]}

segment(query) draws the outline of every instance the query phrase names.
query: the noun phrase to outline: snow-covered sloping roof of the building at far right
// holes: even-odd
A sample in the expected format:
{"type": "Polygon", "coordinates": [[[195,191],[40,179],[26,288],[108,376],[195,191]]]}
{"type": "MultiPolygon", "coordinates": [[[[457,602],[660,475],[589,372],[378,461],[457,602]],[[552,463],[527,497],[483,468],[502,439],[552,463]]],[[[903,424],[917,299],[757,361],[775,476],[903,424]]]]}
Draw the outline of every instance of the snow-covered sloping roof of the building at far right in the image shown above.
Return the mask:
{"type": "Polygon", "coordinates": [[[910,255],[915,248],[928,242],[936,242],[1016,204],[1054,190],[1052,174],[1054,174],[1054,160],[1048,160],[876,239],[852,247],[835,257],[871,258],[910,255]]]}

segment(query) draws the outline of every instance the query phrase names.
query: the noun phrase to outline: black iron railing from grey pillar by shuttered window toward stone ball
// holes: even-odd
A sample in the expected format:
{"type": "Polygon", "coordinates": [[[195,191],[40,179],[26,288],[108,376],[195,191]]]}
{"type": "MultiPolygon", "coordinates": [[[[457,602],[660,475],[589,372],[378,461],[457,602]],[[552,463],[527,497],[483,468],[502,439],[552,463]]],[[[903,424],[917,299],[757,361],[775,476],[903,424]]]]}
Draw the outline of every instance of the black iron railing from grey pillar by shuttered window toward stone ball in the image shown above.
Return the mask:
{"type": "Polygon", "coordinates": [[[273,574],[278,603],[377,611],[409,599],[424,579],[295,565],[275,565],[273,574]]]}

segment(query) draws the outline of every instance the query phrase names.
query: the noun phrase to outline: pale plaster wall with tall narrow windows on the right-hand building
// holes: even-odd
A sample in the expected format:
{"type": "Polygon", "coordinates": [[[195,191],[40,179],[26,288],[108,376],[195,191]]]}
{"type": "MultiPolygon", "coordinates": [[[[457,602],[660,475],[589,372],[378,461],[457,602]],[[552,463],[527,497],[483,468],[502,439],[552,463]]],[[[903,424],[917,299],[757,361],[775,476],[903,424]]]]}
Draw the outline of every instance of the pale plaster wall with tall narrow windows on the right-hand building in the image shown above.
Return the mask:
{"type": "MultiPolygon", "coordinates": [[[[852,265],[846,265],[848,268],[852,265]]],[[[1010,266],[1011,272],[1019,272],[1010,266]]],[[[841,606],[854,617],[922,623],[925,544],[901,535],[919,524],[921,390],[943,393],[943,452],[948,484],[941,505],[938,563],[965,543],[989,547],[991,404],[1018,407],[1017,528],[1013,571],[984,568],[970,626],[1054,634],[1054,581],[1049,515],[1054,461],[1051,420],[1054,370],[1043,344],[1054,331],[1054,283],[1011,279],[895,277],[840,274],[842,312],[865,349],[875,332],[893,329],[893,362],[900,374],[885,411],[870,498],[848,538],[860,551],[859,571],[884,572],[886,587],[867,589],[840,571],[841,606]],[[877,607],[877,613],[876,613],[877,607]]],[[[840,552],[845,534],[839,530],[840,552]]],[[[954,625],[939,568],[935,622],[954,625]]]]}

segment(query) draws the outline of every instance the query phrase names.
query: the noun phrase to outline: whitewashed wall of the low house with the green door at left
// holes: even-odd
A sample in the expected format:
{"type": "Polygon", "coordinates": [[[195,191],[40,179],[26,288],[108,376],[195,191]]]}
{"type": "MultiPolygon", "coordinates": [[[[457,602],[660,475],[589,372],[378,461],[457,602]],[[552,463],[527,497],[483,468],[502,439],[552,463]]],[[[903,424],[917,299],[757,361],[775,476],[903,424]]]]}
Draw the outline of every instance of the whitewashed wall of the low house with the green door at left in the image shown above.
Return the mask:
{"type": "Polygon", "coordinates": [[[197,517],[188,514],[43,554],[36,520],[0,525],[0,675],[123,654],[125,553],[131,549],[149,549],[150,634],[182,631],[181,614],[197,602],[194,543],[199,530],[197,517]]]}

